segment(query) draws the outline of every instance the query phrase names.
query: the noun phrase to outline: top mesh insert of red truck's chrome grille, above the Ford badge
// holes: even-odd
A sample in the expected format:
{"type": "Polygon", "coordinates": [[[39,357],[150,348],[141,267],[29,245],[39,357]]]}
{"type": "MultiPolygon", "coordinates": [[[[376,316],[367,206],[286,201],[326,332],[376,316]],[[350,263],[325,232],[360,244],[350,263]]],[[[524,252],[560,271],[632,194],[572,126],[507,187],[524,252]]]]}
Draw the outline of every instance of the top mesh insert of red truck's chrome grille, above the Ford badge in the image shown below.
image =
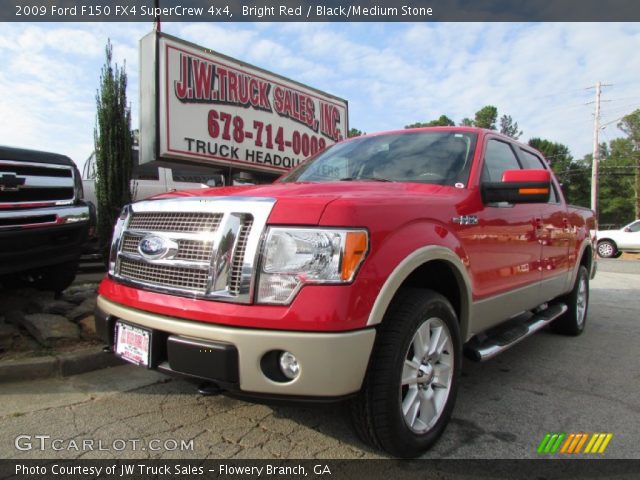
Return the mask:
{"type": "Polygon", "coordinates": [[[133,214],[129,229],[149,232],[215,232],[221,219],[222,215],[216,213],[142,212],[133,214]]]}

